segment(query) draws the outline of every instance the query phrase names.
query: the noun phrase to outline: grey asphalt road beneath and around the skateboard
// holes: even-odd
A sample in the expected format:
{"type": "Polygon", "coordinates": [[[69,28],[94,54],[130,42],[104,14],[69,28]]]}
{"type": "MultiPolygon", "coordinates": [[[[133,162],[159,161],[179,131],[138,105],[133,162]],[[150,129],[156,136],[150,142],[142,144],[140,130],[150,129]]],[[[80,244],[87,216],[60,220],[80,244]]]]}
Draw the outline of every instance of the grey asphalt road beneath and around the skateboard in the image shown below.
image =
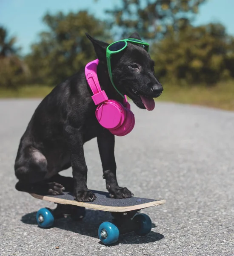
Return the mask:
{"type": "MultiPolygon", "coordinates": [[[[81,223],[61,219],[45,230],[37,227],[36,212],[55,205],[14,189],[18,143],[39,102],[0,101],[1,256],[234,255],[234,112],[169,103],[156,103],[151,112],[132,107],[134,130],[116,138],[118,181],[138,197],[166,204],[142,210],[153,222],[148,236],[128,233],[105,246],[97,229],[111,220],[108,212],[87,210],[81,223]]],[[[85,151],[88,187],[105,189],[96,140],[85,151]]]]}

